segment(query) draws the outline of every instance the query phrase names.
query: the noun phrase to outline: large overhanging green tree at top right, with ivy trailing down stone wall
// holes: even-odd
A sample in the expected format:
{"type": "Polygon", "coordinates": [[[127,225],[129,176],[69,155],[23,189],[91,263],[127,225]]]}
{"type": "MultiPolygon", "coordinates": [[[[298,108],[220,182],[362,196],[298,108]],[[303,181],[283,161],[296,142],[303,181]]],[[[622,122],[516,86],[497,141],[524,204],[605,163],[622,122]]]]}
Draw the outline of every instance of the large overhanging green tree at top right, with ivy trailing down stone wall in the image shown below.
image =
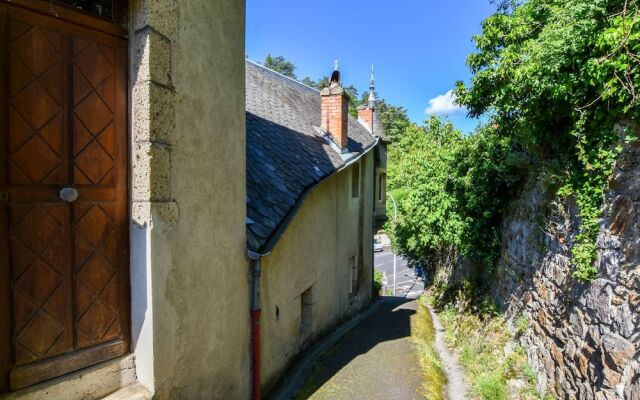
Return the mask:
{"type": "Polygon", "coordinates": [[[640,17],[636,0],[502,1],[474,38],[471,85],[456,95],[471,116],[489,114],[496,134],[517,140],[567,177],[581,227],[574,276],[597,270],[595,238],[615,159],[616,122],[640,114],[640,17]]]}

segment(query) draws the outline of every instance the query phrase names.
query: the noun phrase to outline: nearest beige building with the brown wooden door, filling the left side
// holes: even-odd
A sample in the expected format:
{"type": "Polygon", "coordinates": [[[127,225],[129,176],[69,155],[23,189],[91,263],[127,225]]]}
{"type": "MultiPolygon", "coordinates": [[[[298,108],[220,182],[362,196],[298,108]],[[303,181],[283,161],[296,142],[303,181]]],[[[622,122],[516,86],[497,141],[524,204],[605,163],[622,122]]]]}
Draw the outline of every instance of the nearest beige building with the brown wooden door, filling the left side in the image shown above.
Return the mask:
{"type": "Polygon", "coordinates": [[[1,398],[249,397],[244,18],[0,1],[1,398]]]}

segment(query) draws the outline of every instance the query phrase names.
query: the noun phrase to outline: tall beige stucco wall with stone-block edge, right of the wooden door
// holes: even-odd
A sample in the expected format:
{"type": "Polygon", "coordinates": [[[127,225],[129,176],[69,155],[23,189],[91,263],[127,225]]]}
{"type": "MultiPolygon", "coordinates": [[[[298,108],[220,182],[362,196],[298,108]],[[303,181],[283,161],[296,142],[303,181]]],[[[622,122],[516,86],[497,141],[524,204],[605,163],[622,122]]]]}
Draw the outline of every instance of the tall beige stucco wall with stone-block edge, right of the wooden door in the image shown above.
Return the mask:
{"type": "Polygon", "coordinates": [[[245,399],[245,2],[132,8],[138,379],[157,399],[245,399]]]}

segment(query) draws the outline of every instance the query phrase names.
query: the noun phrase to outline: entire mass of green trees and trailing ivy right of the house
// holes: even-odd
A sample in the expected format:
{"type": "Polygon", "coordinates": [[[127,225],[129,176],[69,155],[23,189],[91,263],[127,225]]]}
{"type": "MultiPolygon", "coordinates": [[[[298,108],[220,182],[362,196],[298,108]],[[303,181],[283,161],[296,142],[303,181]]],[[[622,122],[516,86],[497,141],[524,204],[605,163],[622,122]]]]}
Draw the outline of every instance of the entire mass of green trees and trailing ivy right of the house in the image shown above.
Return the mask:
{"type": "Polygon", "coordinates": [[[486,125],[463,136],[432,118],[391,146],[395,245],[432,269],[462,256],[491,272],[510,201],[540,176],[575,198],[573,275],[593,280],[607,180],[621,143],[636,139],[615,128],[640,112],[638,13],[629,0],[503,2],[474,38],[470,84],[456,89],[486,125]]]}

